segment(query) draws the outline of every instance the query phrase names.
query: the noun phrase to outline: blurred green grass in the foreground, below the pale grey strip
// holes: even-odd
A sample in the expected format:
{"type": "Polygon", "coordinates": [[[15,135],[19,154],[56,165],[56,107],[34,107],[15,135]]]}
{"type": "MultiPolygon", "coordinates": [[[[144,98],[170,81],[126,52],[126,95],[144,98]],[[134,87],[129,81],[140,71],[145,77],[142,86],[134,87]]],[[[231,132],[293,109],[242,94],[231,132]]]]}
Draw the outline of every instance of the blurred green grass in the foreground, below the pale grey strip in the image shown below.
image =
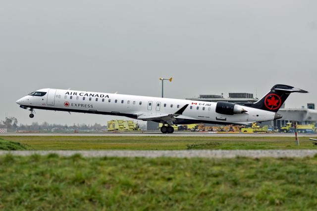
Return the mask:
{"type": "Polygon", "coordinates": [[[317,158],[0,157],[0,210],[316,210],[317,158]]]}

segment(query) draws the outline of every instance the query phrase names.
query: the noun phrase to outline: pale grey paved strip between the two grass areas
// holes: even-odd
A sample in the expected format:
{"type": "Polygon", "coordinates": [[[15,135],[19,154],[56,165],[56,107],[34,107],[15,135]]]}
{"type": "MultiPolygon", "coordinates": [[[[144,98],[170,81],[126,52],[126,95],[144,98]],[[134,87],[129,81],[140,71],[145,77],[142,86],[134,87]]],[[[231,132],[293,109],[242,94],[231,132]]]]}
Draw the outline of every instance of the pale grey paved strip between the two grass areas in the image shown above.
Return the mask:
{"type": "Polygon", "coordinates": [[[306,158],[317,155],[317,150],[108,150],[108,151],[0,151],[0,156],[31,156],[57,154],[69,157],[76,154],[82,157],[120,157],[120,158],[306,158]]]}

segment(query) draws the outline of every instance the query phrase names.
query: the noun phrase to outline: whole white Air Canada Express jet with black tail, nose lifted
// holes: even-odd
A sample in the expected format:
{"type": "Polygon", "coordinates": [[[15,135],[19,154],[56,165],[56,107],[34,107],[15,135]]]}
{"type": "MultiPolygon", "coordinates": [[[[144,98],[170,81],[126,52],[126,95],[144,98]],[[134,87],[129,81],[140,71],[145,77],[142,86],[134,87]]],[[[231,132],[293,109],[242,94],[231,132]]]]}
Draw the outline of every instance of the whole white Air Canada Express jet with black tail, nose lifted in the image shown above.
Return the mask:
{"type": "Polygon", "coordinates": [[[277,110],[290,93],[308,93],[288,85],[275,85],[258,102],[240,106],[227,102],[204,102],[100,92],[41,89],[16,101],[20,107],[126,116],[163,123],[162,133],[173,133],[172,125],[193,123],[249,124],[282,118],[277,110]],[[167,125],[167,126],[166,126],[167,125]]]}

